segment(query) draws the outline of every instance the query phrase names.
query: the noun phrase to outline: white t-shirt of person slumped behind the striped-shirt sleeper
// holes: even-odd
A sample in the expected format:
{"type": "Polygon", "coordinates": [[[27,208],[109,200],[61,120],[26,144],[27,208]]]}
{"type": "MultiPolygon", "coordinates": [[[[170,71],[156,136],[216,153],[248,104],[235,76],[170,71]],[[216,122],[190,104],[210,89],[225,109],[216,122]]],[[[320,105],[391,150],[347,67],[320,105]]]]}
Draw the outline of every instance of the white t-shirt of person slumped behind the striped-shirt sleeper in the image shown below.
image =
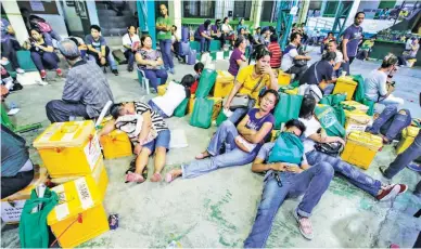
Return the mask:
{"type": "Polygon", "coordinates": [[[160,109],[162,109],[168,117],[173,116],[174,110],[186,99],[184,87],[170,81],[167,87],[167,91],[163,96],[156,96],[152,99],[160,109]]]}

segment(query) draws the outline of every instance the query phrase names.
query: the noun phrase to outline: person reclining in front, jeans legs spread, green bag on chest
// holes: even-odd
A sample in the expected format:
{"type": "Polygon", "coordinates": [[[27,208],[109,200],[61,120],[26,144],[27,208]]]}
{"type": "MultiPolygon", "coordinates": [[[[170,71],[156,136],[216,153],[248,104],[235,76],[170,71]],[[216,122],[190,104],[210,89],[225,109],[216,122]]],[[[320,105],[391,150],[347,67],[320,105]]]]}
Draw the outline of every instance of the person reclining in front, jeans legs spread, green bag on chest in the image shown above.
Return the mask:
{"type": "Polygon", "coordinates": [[[292,119],[273,143],[266,143],[253,161],[252,171],[266,172],[264,191],[257,208],[256,219],[244,248],[264,248],[273,219],[286,198],[304,195],[293,215],[303,236],[312,239],[309,217],[333,179],[334,170],[328,162],[309,166],[304,155],[299,136],[306,127],[292,119]]]}

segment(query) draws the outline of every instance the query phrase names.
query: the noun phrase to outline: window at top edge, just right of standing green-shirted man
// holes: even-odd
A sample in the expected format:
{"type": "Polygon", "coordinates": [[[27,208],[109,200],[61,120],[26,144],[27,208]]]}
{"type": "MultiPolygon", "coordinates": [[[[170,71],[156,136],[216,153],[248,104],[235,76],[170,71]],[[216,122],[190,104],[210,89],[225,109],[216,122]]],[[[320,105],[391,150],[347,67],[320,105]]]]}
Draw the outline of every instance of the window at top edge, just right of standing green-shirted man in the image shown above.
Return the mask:
{"type": "Polygon", "coordinates": [[[183,17],[214,18],[215,1],[213,0],[184,0],[182,1],[183,17]]]}

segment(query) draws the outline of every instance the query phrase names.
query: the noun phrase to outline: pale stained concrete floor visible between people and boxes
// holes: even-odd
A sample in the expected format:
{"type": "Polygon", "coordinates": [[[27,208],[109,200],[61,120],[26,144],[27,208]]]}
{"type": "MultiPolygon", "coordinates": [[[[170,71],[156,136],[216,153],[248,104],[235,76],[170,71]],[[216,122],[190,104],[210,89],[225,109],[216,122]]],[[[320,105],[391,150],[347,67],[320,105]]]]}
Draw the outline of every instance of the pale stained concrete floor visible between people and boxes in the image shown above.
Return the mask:
{"type": "MultiPolygon", "coordinates": [[[[317,48],[315,51],[318,51],[317,48]]],[[[312,53],[314,57],[320,55],[312,53]]],[[[356,61],[353,74],[366,76],[379,63],[356,61]]],[[[115,100],[146,101],[153,95],[144,95],[137,82],[136,73],[129,74],[120,66],[120,75],[109,73],[107,78],[115,100]]],[[[228,62],[216,63],[217,69],[228,68],[228,62]]],[[[177,65],[176,75],[180,80],[184,74],[193,73],[192,66],[177,65]]],[[[413,117],[421,117],[418,94],[421,90],[421,70],[401,68],[395,76],[395,95],[404,97],[405,107],[413,117]]],[[[14,117],[18,124],[49,122],[44,105],[52,99],[60,99],[63,80],[50,86],[25,87],[23,91],[11,94],[7,103],[14,102],[21,112],[14,117]]],[[[183,129],[189,147],[173,149],[168,154],[164,173],[181,162],[193,159],[202,152],[215,128],[208,130],[188,124],[189,117],[170,118],[170,129],[183,129]]],[[[28,144],[41,131],[27,132],[24,136],[28,144]]],[[[31,147],[31,158],[41,162],[31,147]]],[[[388,165],[396,155],[392,146],[378,154],[367,173],[381,180],[379,166],[388,165]]],[[[171,240],[182,247],[242,247],[252,227],[263,189],[263,176],[251,172],[251,165],[222,169],[192,179],[177,180],[171,184],[151,183],[125,184],[124,172],[132,157],[106,160],[110,184],[104,200],[109,213],[119,214],[119,227],[105,233],[81,247],[166,247],[171,240]]],[[[152,163],[149,165],[150,172],[152,163]]],[[[406,183],[409,191],[387,202],[379,202],[370,195],[335,178],[311,217],[315,238],[304,239],[299,234],[292,210],[297,199],[286,200],[273,221],[273,228],[267,247],[388,247],[398,244],[411,247],[421,231],[420,219],[412,218],[421,208],[421,199],[412,191],[421,176],[404,169],[393,182],[406,183]]],[[[2,247],[20,247],[16,226],[2,225],[2,247]]]]}

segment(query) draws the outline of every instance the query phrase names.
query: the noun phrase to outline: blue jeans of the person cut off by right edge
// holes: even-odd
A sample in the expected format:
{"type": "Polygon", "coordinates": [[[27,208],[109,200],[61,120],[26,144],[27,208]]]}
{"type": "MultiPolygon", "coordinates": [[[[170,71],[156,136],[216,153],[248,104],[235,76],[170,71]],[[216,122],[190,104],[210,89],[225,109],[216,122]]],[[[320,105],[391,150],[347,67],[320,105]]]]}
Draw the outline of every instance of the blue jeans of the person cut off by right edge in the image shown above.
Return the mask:
{"type": "MultiPolygon", "coordinates": [[[[384,171],[384,176],[387,179],[392,179],[400,170],[403,170],[406,166],[408,166],[412,160],[417,159],[420,156],[421,156],[421,132],[418,133],[413,143],[407,149],[405,149],[405,152],[399,154],[394,161],[392,161],[388,168],[384,171]]],[[[413,194],[421,195],[421,181],[417,184],[417,187],[413,194]]]]}

